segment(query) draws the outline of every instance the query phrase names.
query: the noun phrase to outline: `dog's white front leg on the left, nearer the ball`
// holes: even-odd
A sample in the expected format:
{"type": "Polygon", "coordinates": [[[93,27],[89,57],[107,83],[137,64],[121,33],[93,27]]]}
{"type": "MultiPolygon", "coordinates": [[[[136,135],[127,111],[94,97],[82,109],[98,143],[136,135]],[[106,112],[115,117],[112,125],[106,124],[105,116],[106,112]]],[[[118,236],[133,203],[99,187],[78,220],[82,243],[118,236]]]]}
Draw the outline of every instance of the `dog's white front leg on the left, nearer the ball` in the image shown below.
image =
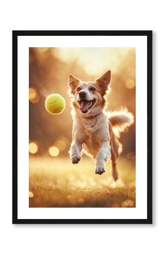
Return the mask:
{"type": "Polygon", "coordinates": [[[77,141],[74,139],[71,143],[71,148],[70,148],[70,158],[73,164],[79,163],[81,159],[81,152],[82,150],[82,145],[81,142],[77,141]]]}

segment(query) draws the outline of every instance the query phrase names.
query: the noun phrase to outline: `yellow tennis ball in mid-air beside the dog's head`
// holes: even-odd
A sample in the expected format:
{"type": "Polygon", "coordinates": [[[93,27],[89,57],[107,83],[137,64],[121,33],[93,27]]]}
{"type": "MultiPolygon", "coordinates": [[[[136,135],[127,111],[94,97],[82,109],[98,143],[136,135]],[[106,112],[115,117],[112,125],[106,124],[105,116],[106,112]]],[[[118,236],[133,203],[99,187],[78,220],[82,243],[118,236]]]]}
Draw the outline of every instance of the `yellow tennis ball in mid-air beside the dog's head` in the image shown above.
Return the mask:
{"type": "Polygon", "coordinates": [[[53,115],[57,115],[63,112],[66,106],[64,98],[57,93],[50,94],[45,100],[46,110],[53,115]]]}

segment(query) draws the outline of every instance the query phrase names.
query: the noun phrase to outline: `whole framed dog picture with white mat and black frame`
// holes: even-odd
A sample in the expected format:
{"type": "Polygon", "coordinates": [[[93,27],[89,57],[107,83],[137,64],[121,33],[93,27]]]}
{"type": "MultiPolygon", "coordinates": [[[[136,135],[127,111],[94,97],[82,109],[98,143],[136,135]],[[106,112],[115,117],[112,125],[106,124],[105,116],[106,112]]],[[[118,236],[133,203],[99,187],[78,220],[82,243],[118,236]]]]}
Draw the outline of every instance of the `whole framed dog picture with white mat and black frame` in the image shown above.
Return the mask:
{"type": "Polygon", "coordinates": [[[12,31],[13,224],[152,224],[152,31],[12,31]]]}

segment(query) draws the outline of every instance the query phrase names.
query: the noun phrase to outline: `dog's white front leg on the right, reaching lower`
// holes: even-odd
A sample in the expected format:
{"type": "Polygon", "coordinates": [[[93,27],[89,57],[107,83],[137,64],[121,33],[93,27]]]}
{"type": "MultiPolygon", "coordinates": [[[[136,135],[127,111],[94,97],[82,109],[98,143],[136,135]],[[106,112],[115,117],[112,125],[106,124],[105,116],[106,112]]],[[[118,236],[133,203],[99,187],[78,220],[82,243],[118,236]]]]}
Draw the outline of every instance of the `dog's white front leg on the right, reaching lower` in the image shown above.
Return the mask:
{"type": "Polygon", "coordinates": [[[110,144],[109,141],[103,142],[100,148],[100,151],[97,154],[96,158],[96,174],[103,174],[105,172],[105,161],[110,158],[110,144]]]}

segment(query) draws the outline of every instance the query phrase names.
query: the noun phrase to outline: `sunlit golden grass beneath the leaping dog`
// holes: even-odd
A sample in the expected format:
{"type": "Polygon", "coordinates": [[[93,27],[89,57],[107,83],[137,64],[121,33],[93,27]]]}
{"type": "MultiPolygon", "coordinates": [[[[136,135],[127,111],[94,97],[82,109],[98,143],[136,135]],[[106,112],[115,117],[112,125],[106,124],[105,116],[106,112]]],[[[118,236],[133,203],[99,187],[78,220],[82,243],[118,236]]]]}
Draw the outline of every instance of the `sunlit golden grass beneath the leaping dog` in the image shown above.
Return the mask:
{"type": "Polygon", "coordinates": [[[119,179],[110,163],[103,175],[84,157],[73,165],[69,158],[29,158],[29,207],[135,207],[135,161],[120,158],[119,179]]]}

